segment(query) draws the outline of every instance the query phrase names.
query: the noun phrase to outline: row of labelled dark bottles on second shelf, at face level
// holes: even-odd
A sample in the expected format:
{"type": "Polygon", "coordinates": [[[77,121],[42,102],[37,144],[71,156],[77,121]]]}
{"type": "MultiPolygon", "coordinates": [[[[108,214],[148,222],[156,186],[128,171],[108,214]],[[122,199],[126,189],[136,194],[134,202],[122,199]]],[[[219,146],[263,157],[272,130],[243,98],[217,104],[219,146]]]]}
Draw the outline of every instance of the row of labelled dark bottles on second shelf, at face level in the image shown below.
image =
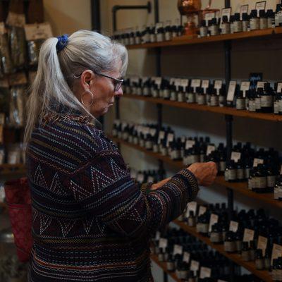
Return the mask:
{"type": "Polygon", "coordinates": [[[259,81],[251,85],[232,80],[228,85],[222,80],[179,78],[127,78],[123,86],[126,94],[161,98],[188,104],[230,106],[238,110],[257,113],[282,114],[282,83],[272,87],[269,82],[259,81]],[[227,90],[227,91],[226,91],[227,90]],[[228,95],[227,95],[228,93],[228,95]]]}

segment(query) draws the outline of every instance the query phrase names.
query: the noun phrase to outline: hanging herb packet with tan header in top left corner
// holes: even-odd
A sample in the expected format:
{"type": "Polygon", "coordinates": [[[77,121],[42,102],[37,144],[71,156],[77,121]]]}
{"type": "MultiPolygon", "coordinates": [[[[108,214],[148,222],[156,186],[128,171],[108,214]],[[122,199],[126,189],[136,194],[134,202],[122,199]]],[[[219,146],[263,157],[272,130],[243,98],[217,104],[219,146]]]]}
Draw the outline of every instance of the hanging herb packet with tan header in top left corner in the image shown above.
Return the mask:
{"type": "Polygon", "coordinates": [[[23,0],[11,0],[6,23],[8,25],[13,65],[15,68],[23,68],[26,61],[23,0]]]}

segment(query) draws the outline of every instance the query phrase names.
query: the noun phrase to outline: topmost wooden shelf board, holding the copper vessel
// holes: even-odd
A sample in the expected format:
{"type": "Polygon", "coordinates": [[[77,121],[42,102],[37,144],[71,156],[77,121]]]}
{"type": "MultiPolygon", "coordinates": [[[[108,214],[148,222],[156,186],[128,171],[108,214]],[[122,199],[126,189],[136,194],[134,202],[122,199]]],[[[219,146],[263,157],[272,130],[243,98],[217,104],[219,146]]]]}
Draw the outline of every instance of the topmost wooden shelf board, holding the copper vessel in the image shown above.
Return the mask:
{"type": "Polygon", "coordinates": [[[281,27],[267,28],[265,30],[253,30],[250,32],[238,32],[230,35],[216,35],[210,37],[202,38],[192,38],[186,39],[185,37],[177,37],[171,41],[156,42],[156,43],[146,43],[146,44],[135,44],[127,45],[127,49],[149,49],[157,47],[173,47],[180,45],[191,45],[191,44],[205,44],[210,42],[222,42],[226,40],[238,40],[238,39],[251,39],[255,37],[265,37],[269,35],[279,34],[281,32],[281,27]],[[276,30],[277,29],[277,30],[276,30]]]}

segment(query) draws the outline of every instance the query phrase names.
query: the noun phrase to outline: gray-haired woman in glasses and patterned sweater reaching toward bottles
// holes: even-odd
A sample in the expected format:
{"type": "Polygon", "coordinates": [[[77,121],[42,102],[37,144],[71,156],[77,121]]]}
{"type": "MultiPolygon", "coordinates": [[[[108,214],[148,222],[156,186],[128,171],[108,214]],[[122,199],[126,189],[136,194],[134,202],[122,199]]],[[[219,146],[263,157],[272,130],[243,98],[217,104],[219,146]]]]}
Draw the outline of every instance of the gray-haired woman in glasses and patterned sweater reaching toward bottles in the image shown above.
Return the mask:
{"type": "Polygon", "coordinates": [[[149,192],[130,178],[95,123],[122,96],[127,64],[125,47],[97,32],[41,48],[25,131],[32,282],[152,281],[150,235],[214,181],[214,163],[193,164],[149,192]]]}

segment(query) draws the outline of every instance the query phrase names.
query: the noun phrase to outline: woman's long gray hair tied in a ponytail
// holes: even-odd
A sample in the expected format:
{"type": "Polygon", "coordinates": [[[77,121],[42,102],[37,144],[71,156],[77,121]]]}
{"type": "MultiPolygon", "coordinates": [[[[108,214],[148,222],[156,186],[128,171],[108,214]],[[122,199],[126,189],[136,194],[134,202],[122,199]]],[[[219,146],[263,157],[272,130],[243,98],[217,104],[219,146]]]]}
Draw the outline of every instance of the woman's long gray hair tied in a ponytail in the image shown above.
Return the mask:
{"type": "MultiPolygon", "coordinates": [[[[96,73],[113,71],[121,59],[121,75],[128,66],[128,52],[122,44],[89,30],[79,30],[68,38],[66,47],[57,53],[58,39],[47,39],[39,52],[35,81],[27,101],[25,142],[45,114],[59,114],[60,106],[92,116],[73,94],[75,75],[90,69],[96,73]]],[[[92,116],[92,118],[94,118],[92,116]]]]}

